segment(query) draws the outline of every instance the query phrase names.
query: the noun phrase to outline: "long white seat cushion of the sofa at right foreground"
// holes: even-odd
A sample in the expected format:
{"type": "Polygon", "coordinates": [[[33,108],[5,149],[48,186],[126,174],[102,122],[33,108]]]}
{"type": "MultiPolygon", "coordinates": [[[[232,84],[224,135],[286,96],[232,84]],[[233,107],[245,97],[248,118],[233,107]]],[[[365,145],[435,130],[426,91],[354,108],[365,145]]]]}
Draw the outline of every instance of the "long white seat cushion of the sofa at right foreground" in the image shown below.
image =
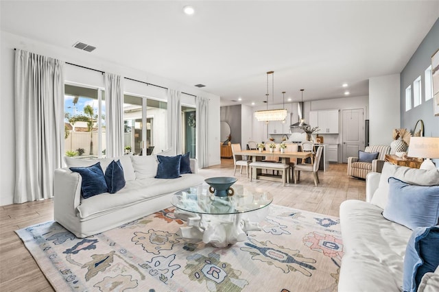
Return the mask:
{"type": "Polygon", "coordinates": [[[412,230],[384,219],[381,212],[358,200],[340,205],[345,254],[338,291],[399,291],[412,230]]]}

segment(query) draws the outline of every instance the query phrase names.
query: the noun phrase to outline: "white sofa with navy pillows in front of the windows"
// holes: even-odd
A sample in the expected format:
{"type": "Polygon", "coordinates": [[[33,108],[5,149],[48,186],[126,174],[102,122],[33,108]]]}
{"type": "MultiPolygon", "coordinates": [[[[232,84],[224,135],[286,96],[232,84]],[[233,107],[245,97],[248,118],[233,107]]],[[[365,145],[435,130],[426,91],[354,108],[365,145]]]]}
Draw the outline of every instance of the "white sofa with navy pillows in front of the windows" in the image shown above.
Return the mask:
{"type": "Polygon", "coordinates": [[[56,169],[54,177],[54,219],[80,238],[91,236],[128,223],[171,206],[176,191],[204,182],[197,160],[191,159],[192,173],[180,178],[154,178],[158,161],[152,156],[120,156],[99,160],[67,158],[68,167],[56,169]],[[89,167],[101,163],[105,173],[112,160],[119,160],[126,186],[117,193],[102,193],[84,199],[81,195],[82,177],[69,167],[89,167]]]}

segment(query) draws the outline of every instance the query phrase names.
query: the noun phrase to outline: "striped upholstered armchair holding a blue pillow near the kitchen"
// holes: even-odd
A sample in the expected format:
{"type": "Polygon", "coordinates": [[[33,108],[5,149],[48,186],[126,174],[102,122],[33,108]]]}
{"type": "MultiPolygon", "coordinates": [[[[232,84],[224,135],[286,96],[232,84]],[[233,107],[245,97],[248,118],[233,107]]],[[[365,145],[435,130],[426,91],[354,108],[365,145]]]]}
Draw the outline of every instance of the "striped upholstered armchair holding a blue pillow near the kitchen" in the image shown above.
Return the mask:
{"type": "Polygon", "coordinates": [[[368,154],[375,152],[378,152],[378,155],[375,159],[370,160],[370,162],[361,161],[359,157],[349,157],[348,175],[355,176],[356,178],[366,178],[366,175],[370,172],[381,173],[381,170],[383,169],[384,166],[385,154],[390,153],[390,146],[388,145],[368,146],[366,147],[366,149],[364,149],[364,152],[366,152],[365,156],[368,156],[368,154]]]}

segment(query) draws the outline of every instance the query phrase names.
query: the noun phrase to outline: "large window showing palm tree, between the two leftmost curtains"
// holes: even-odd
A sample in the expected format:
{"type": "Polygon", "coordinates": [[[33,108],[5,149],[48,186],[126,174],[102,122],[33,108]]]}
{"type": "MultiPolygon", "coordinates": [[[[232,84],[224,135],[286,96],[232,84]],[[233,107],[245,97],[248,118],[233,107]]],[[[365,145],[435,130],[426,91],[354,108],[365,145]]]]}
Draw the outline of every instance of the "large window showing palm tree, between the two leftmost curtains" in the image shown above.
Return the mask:
{"type": "Polygon", "coordinates": [[[64,86],[64,148],[67,156],[105,156],[104,90],[64,86]]]}

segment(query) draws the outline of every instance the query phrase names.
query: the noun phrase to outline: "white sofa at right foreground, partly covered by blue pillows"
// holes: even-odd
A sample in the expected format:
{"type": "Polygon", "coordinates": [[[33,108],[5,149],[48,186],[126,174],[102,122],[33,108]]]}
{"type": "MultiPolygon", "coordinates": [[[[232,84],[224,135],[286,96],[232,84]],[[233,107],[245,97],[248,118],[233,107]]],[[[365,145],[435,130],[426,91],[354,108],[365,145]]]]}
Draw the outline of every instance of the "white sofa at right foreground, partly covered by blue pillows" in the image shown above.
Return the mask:
{"type": "MultiPolygon", "coordinates": [[[[344,244],[340,292],[402,291],[405,251],[413,231],[383,217],[390,177],[420,186],[439,184],[439,171],[396,167],[388,162],[382,173],[368,174],[366,202],[351,199],[340,206],[344,244]]],[[[436,252],[439,253],[439,245],[436,252]]],[[[439,291],[438,279],[439,267],[434,273],[425,274],[422,291],[439,291]]]]}

